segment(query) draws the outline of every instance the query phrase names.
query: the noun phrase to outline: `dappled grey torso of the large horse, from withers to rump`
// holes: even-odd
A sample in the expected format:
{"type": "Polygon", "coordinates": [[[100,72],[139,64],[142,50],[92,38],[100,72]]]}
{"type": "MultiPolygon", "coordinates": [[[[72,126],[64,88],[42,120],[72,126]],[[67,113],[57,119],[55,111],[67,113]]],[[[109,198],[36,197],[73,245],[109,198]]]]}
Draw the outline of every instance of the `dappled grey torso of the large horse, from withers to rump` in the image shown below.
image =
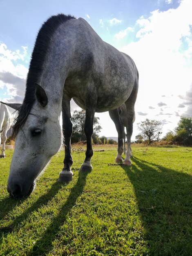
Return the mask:
{"type": "Polygon", "coordinates": [[[64,90],[85,109],[85,92],[96,94],[96,112],[112,110],[125,102],[132,92],[136,66],[132,59],[104,42],[82,18],[70,20],[70,30],[78,45],[75,65],[65,81],[64,90]]]}

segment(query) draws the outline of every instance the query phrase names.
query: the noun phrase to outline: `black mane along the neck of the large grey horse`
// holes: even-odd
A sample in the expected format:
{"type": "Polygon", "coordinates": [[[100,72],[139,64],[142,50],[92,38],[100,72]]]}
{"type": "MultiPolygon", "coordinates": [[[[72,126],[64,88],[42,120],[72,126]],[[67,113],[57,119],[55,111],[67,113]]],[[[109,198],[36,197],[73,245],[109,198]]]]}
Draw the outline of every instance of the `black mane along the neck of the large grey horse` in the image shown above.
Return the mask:
{"type": "Polygon", "coordinates": [[[31,107],[33,106],[33,103],[35,101],[35,83],[38,82],[38,79],[42,72],[42,65],[45,61],[51,37],[53,36],[54,32],[56,31],[59,25],[70,19],[75,19],[75,17],[64,14],[51,16],[42,25],[38,32],[36,43],[34,45],[33,53],[31,56],[29,72],[27,75],[25,98],[18,112],[18,116],[16,117],[15,123],[13,125],[13,139],[16,137],[20,128],[25,124],[31,107]]]}

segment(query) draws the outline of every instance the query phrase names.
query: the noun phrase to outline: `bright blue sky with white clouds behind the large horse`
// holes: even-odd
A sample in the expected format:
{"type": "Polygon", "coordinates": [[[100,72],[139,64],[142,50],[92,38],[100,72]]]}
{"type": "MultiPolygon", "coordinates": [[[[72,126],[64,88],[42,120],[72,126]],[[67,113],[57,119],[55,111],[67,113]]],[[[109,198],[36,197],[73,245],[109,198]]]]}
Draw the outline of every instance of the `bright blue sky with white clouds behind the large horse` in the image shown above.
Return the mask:
{"type": "MultiPolygon", "coordinates": [[[[158,119],[163,134],[192,116],[191,0],[0,0],[0,99],[22,102],[30,55],[42,23],[57,13],[82,17],[139,70],[136,123],[158,119]]],[[[73,105],[72,110],[74,110],[73,105]]],[[[116,136],[108,113],[101,135],[116,136]]]]}

